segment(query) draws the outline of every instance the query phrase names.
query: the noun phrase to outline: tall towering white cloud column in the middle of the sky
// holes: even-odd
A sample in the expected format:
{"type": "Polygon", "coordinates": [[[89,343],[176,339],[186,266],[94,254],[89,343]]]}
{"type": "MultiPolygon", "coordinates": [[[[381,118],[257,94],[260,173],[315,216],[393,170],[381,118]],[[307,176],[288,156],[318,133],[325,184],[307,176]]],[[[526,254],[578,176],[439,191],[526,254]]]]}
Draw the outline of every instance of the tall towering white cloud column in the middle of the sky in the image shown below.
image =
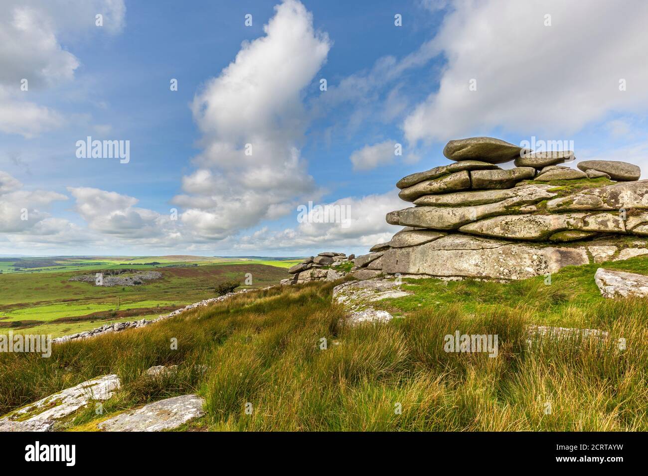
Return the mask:
{"type": "Polygon", "coordinates": [[[192,104],[203,150],[174,203],[202,236],[220,239],[277,218],[317,192],[299,151],[308,122],[302,96],[330,41],[296,0],[275,6],[264,33],[243,43],[192,104]]]}

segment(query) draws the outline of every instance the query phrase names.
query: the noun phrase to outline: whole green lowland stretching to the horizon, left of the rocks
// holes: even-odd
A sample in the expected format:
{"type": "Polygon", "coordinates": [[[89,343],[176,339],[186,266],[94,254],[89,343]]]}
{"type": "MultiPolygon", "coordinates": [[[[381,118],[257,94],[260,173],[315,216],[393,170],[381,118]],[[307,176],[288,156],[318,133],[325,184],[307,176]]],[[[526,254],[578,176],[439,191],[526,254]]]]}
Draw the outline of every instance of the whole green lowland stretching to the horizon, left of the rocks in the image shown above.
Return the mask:
{"type": "MultiPolygon", "coordinates": [[[[8,267],[14,258],[0,262],[8,267]]],[[[38,265],[0,275],[0,333],[75,334],[106,323],[152,319],[186,304],[215,297],[214,286],[238,280],[241,288],[277,284],[299,260],[203,258],[201,256],[118,256],[111,258],[29,258],[38,265]],[[150,264],[159,263],[159,264],[150,264]],[[80,274],[107,269],[155,270],[159,280],[139,286],[93,286],[71,282],[80,274]],[[246,273],[252,284],[245,285],[246,273]]],[[[28,265],[29,266],[29,265],[28,265]]]]}

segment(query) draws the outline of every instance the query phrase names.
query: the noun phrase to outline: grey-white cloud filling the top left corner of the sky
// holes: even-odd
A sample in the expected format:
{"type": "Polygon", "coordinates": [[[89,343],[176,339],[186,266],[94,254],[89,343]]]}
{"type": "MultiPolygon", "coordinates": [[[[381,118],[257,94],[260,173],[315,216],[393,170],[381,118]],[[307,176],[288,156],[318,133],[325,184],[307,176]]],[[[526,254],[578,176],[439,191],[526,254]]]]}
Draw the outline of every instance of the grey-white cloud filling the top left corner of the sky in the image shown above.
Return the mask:
{"type": "Polygon", "coordinates": [[[115,34],[126,7],[123,0],[1,0],[0,9],[0,131],[34,137],[64,120],[30,101],[30,92],[72,80],[80,65],[61,38],[85,31],[115,34]],[[95,26],[96,14],[104,16],[104,27],[95,26]]]}

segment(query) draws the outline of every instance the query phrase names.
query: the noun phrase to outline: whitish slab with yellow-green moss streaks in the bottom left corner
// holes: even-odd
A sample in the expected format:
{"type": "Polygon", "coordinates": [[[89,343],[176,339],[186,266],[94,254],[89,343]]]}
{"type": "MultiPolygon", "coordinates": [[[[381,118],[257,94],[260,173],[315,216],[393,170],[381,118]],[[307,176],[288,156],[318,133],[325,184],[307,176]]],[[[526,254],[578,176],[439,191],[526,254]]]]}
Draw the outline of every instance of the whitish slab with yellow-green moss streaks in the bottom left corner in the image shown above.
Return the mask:
{"type": "Polygon", "coordinates": [[[121,383],[115,374],[87,380],[0,418],[0,431],[51,431],[57,420],[97,400],[108,400],[121,383]]]}

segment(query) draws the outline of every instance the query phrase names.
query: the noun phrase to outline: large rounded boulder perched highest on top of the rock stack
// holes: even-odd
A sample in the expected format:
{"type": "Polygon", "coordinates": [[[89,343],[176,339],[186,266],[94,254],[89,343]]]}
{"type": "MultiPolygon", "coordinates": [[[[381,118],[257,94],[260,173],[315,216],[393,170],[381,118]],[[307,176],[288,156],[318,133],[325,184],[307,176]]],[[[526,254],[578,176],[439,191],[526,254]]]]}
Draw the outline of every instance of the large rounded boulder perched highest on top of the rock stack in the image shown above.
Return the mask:
{"type": "Polygon", "coordinates": [[[521,147],[493,137],[457,139],[448,142],[443,149],[443,155],[452,161],[475,160],[491,164],[512,161],[520,157],[520,152],[523,152],[521,147]]]}

